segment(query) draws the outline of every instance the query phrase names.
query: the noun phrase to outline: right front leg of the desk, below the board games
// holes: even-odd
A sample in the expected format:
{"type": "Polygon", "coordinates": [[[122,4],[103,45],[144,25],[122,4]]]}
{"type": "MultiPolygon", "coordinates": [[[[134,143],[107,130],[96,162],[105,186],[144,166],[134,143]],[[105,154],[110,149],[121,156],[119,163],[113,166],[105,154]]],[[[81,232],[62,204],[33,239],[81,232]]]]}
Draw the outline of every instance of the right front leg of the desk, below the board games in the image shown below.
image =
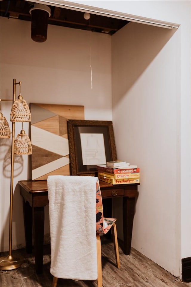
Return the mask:
{"type": "Polygon", "coordinates": [[[124,236],[124,254],[131,252],[131,239],[133,230],[133,217],[135,212],[135,198],[123,197],[123,236],[124,236]]]}

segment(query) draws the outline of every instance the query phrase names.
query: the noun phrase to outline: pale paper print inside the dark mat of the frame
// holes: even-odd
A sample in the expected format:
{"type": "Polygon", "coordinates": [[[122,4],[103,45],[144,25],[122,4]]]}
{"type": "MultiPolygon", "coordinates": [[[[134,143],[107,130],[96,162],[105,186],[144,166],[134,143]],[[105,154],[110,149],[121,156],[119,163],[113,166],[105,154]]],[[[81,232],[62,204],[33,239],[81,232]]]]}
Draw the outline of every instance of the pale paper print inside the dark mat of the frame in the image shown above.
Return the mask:
{"type": "Polygon", "coordinates": [[[104,135],[80,134],[83,165],[106,164],[104,135]]]}

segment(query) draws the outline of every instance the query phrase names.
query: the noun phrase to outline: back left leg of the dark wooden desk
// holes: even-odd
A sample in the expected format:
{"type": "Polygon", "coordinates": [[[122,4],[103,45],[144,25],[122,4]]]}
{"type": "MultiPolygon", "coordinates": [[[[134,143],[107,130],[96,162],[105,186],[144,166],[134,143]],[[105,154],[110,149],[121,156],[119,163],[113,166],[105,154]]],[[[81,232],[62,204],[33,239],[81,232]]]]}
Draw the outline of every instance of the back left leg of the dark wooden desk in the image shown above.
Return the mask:
{"type": "Polygon", "coordinates": [[[27,253],[32,253],[33,215],[32,207],[23,197],[24,232],[27,253]]]}

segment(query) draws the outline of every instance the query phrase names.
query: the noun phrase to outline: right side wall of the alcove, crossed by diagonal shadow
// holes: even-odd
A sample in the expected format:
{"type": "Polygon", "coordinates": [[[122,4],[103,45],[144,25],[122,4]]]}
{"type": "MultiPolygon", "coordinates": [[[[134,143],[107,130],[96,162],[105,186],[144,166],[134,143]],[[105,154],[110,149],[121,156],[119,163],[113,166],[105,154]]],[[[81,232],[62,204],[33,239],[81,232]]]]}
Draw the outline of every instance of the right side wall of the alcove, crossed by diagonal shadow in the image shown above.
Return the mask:
{"type": "Polygon", "coordinates": [[[132,246],[175,275],[181,257],[179,36],[131,22],[112,37],[117,154],[141,170],[132,246]]]}

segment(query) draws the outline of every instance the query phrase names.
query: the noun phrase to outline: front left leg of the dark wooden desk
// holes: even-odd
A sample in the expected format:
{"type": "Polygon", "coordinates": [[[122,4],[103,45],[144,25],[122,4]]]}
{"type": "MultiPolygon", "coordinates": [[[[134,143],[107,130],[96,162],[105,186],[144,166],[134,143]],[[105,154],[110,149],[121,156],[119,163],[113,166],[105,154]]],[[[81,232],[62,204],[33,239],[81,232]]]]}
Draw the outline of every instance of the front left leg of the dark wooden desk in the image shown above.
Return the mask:
{"type": "Polygon", "coordinates": [[[44,207],[33,207],[33,236],[36,274],[40,274],[43,267],[44,207]]]}

